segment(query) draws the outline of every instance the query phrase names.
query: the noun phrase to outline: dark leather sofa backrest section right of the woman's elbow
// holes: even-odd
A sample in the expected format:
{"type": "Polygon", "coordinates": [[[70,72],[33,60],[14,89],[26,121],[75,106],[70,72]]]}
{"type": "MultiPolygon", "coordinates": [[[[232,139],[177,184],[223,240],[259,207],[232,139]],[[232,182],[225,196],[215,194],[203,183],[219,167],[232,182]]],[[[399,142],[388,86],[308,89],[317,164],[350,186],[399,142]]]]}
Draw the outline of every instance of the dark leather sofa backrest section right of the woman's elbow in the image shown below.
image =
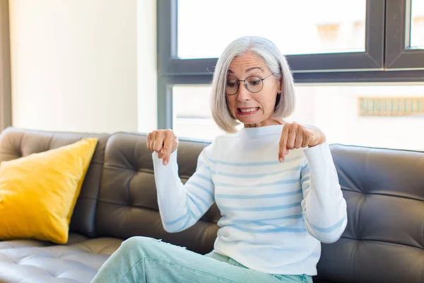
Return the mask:
{"type": "Polygon", "coordinates": [[[348,225],[317,280],[424,282],[424,152],[331,145],[348,225]]]}

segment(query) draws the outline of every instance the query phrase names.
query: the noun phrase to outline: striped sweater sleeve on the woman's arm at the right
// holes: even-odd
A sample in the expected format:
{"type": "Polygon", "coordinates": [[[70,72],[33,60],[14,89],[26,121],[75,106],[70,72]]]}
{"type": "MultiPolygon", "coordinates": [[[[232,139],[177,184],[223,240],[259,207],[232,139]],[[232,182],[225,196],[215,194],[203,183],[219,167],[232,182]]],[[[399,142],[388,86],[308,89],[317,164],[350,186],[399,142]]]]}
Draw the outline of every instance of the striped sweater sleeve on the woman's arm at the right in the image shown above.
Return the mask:
{"type": "Polygon", "coordinates": [[[306,228],[317,240],[334,243],[346,229],[347,212],[331,151],[324,142],[304,152],[307,163],[300,182],[306,228]]]}

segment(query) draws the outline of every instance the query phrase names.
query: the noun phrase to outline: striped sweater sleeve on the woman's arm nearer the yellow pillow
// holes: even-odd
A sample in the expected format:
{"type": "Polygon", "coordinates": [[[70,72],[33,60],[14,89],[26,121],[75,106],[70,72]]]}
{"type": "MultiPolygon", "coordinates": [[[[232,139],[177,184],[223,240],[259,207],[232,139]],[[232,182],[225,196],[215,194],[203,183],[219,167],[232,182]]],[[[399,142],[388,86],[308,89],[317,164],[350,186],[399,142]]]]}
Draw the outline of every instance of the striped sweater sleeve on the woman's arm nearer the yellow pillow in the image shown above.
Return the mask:
{"type": "Polygon", "coordinates": [[[205,149],[199,155],[196,172],[184,185],[178,175],[177,151],[171,154],[167,166],[162,162],[153,153],[160,217],[165,231],[175,233],[196,224],[215,202],[215,190],[205,149]]]}

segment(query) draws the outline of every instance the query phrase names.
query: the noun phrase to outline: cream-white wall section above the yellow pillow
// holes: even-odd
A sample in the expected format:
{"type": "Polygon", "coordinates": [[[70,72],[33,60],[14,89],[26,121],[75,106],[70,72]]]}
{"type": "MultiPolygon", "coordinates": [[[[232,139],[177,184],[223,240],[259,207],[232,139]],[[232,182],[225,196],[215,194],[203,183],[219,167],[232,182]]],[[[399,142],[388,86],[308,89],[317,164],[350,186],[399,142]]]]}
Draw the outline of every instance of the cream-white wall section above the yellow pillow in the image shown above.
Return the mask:
{"type": "Polygon", "coordinates": [[[138,129],[137,0],[10,0],[10,23],[15,127],[138,129]]]}

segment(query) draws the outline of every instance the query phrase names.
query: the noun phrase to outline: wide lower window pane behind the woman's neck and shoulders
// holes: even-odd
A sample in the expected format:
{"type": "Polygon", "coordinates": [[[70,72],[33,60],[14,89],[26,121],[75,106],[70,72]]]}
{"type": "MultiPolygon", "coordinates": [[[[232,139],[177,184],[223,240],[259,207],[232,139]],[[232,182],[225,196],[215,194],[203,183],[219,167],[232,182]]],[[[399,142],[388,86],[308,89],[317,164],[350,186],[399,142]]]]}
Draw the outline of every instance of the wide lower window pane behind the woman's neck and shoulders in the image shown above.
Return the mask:
{"type": "MultiPolygon", "coordinates": [[[[329,143],[424,150],[424,84],[297,85],[288,119],[317,125],[329,143]]],[[[213,140],[223,134],[212,120],[209,86],[174,86],[179,137],[213,140]]]]}

